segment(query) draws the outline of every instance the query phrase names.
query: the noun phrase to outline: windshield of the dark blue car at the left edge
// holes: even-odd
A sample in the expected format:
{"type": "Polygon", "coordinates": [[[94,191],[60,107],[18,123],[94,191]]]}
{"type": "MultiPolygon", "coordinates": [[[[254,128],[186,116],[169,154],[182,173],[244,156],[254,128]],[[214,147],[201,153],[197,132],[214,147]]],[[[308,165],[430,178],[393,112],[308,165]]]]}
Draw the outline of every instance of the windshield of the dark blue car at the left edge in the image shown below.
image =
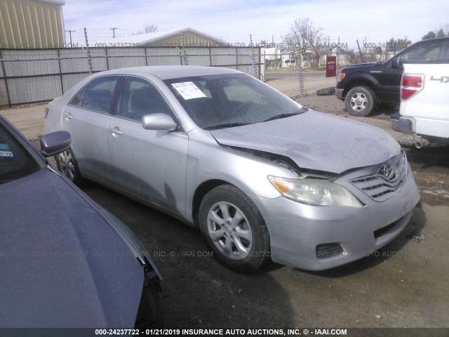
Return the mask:
{"type": "Polygon", "coordinates": [[[28,176],[41,167],[0,123],[0,185],[28,176]]]}

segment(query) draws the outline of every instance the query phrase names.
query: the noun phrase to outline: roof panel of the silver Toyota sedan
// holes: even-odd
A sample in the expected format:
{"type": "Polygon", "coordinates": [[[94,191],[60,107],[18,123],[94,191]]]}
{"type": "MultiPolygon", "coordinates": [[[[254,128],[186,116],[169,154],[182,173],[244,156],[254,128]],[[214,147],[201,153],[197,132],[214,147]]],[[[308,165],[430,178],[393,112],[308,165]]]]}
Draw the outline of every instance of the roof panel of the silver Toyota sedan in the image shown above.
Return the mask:
{"type": "Polygon", "coordinates": [[[147,67],[130,67],[116,70],[107,70],[98,73],[107,74],[134,74],[145,75],[153,74],[160,79],[177,79],[182,77],[203,76],[213,74],[241,74],[237,70],[222,67],[203,67],[196,65],[153,65],[147,67]]]}

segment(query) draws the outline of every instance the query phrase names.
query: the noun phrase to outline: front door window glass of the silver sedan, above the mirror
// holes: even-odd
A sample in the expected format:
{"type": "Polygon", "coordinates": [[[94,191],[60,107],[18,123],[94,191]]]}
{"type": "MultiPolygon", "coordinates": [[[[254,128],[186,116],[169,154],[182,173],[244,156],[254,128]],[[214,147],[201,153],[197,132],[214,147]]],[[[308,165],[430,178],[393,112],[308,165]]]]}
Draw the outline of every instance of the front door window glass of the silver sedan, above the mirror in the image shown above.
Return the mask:
{"type": "Polygon", "coordinates": [[[117,115],[133,121],[142,121],[145,114],[169,114],[173,112],[161,93],[149,82],[126,77],[120,93],[117,115]]]}

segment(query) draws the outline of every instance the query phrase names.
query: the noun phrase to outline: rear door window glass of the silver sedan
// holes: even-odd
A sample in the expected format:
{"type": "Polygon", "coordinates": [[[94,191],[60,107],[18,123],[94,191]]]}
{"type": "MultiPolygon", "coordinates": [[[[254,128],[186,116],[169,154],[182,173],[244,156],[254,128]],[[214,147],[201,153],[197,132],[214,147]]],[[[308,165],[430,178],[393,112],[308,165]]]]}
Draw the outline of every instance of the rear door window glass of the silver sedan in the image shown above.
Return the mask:
{"type": "Polygon", "coordinates": [[[72,98],[69,105],[109,113],[118,79],[119,77],[94,79],[72,98]]]}

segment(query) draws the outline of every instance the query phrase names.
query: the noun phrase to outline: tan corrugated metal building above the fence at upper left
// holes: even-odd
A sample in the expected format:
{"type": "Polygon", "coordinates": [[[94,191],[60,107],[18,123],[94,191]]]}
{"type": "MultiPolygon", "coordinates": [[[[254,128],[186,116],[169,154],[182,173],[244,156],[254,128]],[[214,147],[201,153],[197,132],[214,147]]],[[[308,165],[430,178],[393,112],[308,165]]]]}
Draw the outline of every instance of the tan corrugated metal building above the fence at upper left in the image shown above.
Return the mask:
{"type": "Polygon", "coordinates": [[[63,0],[0,0],[0,48],[61,48],[63,0]]]}

